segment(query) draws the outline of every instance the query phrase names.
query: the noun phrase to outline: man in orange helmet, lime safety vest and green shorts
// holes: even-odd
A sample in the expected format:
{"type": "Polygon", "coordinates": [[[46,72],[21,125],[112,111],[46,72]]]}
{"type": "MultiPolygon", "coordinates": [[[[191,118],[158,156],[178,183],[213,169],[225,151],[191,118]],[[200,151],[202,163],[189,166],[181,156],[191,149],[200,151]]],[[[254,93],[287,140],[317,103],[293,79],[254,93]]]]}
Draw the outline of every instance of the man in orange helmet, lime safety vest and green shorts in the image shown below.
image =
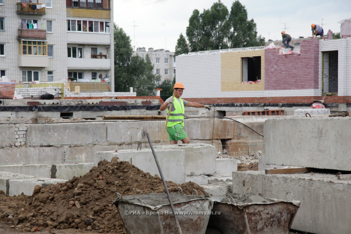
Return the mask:
{"type": "Polygon", "coordinates": [[[160,106],[160,111],[167,109],[168,113],[169,107],[171,103],[173,103],[166,127],[168,135],[170,136],[170,143],[171,145],[176,145],[178,144],[178,140],[181,140],[183,144],[188,144],[190,142],[190,139],[184,131],[184,107],[191,106],[197,108],[206,108],[210,110],[212,106],[200,104],[197,102],[189,102],[181,99],[180,97],[183,94],[184,86],[180,82],[174,84],[173,91],[174,89],[176,90],[174,93],[174,98],[172,98],[172,96],[168,98],[165,103],[160,106]]]}

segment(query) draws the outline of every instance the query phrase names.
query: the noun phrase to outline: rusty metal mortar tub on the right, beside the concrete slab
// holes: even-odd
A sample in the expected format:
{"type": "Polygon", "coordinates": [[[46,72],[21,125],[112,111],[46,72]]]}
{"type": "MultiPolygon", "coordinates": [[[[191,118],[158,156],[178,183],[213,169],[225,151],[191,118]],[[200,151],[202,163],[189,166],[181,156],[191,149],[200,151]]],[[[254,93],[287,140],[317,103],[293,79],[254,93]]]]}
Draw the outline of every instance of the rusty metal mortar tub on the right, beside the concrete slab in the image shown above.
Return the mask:
{"type": "Polygon", "coordinates": [[[233,200],[215,201],[208,227],[217,228],[223,234],[289,233],[300,201],[265,199],[265,202],[243,204],[234,204],[233,200]]]}

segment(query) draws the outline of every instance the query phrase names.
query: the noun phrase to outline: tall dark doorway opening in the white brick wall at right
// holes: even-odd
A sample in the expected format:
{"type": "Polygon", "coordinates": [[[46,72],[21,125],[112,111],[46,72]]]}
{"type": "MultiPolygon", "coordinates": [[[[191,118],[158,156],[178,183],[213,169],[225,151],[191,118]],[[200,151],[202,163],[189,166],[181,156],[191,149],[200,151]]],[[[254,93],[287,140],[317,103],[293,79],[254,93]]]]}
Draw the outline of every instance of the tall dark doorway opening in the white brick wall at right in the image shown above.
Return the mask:
{"type": "Polygon", "coordinates": [[[322,92],[338,93],[338,51],[322,52],[322,92]]]}

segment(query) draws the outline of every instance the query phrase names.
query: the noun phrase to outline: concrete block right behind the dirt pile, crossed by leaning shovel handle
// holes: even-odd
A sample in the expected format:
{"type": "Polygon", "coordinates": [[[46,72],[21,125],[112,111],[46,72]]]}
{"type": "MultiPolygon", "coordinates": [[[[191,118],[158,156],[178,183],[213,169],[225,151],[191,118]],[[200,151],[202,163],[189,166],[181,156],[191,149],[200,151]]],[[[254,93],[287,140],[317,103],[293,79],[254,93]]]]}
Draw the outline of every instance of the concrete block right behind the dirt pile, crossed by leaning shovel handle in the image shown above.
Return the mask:
{"type": "MultiPolygon", "coordinates": [[[[185,182],[185,151],[174,149],[155,149],[158,162],[165,180],[171,180],[176,183],[185,182]]],[[[111,161],[117,156],[122,161],[128,161],[144,172],[151,175],[159,175],[154,156],[151,149],[141,150],[120,150],[118,152],[96,152],[94,155],[95,165],[99,161],[106,159],[111,161]]]]}

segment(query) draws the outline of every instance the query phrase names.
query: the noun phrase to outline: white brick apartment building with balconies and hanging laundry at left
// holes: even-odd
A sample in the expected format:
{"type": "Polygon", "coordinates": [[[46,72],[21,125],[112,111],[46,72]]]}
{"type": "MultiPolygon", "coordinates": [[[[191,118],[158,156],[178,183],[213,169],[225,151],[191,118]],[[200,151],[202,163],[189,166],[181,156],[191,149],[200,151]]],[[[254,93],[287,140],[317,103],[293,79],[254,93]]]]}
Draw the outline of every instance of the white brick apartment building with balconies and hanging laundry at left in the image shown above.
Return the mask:
{"type": "Polygon", "coordinates": [[[0,0],[1,77],[62,83],[101,74],[114,91],[112,9],[112,0],[0,0]]]}

